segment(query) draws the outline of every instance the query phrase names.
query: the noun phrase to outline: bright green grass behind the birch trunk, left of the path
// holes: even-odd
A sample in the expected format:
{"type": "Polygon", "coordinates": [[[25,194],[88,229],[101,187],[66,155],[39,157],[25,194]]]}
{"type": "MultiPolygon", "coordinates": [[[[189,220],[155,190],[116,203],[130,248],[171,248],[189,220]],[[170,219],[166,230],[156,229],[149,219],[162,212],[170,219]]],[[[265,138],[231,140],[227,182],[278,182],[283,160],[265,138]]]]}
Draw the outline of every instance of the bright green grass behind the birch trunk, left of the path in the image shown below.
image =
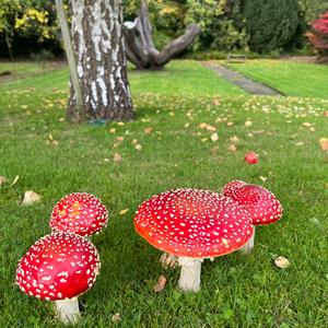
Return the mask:
{"type": "MultiPolygon", "coordinates": [[[[214,72],[198,62],[173,61],[165,70],[140,72],[129,70],[133,93],[185,94],[185,95],[238,95],[244,92],[220,79],[214,72]]],[[[37,92],[67,91],[69,71],[67,68],[39,74],[35,78],[7,83],[3,89],[33,90],[37,92]]]]}

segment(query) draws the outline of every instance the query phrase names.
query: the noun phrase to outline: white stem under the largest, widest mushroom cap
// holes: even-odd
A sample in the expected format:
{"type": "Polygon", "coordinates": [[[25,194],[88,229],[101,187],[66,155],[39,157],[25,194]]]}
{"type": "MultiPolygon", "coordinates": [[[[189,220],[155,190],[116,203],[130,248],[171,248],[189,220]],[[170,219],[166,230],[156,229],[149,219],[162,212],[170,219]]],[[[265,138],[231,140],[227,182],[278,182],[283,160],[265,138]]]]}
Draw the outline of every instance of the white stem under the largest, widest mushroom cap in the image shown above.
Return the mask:
{"type": "Polygon", "coordinates": [[[183,292],[198,292],[202,259],[179,257],[178,261],[181,266],[178,289],[183,292]]]}

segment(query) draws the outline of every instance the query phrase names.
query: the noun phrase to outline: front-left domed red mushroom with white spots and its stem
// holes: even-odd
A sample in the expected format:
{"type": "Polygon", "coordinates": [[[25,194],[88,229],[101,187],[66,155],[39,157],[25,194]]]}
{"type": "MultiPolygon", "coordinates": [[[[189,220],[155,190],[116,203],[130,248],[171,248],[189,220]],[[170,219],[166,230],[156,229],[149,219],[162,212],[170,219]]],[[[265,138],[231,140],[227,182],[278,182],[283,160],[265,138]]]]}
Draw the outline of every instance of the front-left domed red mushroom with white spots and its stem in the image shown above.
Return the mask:
{"type": "Polygon", "coordinates": [[[16,270],[16,283],[27,295],[54,301],[60,321],[80,318],[78,296],[93,286],[101,267],[94,245],[81,236],[56,232],[31,246],[16,270]]]}

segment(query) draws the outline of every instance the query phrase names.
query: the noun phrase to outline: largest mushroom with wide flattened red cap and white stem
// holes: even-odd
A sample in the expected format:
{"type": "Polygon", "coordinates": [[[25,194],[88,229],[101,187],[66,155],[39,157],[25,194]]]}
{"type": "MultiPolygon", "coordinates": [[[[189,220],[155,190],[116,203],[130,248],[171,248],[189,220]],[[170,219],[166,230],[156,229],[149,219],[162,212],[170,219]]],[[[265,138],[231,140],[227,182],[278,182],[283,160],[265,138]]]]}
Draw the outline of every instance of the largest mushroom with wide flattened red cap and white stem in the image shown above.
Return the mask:
{"type": "Polygon", "coordinates": [[[134,218],[136,231],[152,246],[178,257],[178,289],[197,292],[201,262],[243,247],[251,237],[247,212],[213,191],[177,189],[144,201],[134,218]]]}

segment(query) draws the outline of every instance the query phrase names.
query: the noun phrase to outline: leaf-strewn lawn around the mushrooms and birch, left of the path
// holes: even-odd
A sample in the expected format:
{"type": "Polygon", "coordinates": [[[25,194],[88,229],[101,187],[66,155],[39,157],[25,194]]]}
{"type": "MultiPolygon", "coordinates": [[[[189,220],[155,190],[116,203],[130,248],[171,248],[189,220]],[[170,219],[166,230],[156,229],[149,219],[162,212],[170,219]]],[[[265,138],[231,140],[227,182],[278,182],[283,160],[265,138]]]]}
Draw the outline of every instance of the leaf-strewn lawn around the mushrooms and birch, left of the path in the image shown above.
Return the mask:
{"type": "Polygon", "coordinates": [[[0,187],[1,328],[60,327],[51,304],[21,293],[14,274],[49,233],[56,201],[73,191],[98,196],[109,211],[107,229],[92,238],[102,269],[80,297],[79,327],[328,327],[328,161],[318,144],[328,137],[327,99],[245,95],[198,63],[176,61],[154,75],[130,73],[134,121],[72,126],[63,120],[67,77],[61,69],[0,90],[0,175],[10,180],[0,187]],[[216,128],[218,141],[202,122],[216,128]],[[258,164],[244,163],[248,150],[258,164]],[[181,294],[178,270],[162,269],[161,251],[134,233],[134,211],[171,188],[220,191],[231,179],[272,190],[284,215],[257,230],[248,257],[206,260],[201,291],[181,294]],[[26,190],[42,201],[22,206],[26,190]],[[288,269],[274,267],[278,255],[289,258],[288,269]],[[167,284],[155,294],[161,274],[167,284]]]}

